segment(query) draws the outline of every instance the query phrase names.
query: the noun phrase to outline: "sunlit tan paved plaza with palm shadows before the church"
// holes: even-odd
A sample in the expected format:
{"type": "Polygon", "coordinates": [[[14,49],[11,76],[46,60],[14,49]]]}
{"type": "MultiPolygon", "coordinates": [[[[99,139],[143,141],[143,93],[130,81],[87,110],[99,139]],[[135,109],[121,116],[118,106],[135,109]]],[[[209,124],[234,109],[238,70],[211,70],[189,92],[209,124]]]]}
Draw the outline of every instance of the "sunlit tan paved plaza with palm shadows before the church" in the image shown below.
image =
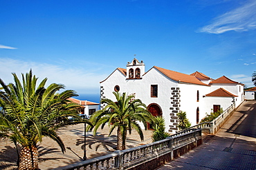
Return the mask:
{"type": "MultiPolygon", "coordinates": [[[[127,148],[136,147],[152,142],[150,130],[143,130],[144,141],[140,141],[140,137],[136,131],[132,131],[131,135],[127,135],[127,148]]],[[[55,169],[64,167],[68,164],[80,162],[84,156],[84,125],[71,125],[64,127],[58,132],[66,147],[66,152],[62,153],[57,142],[44,137],[43,142],[39,144],[39,168],[55,169]]],[[[91,132],[86,132],[86,157],[87,159],[95,158],[115,151],[116,147],[116,131],[108,136],[109,128],[99,129],[97,136],[93,136],[91,132]]],[[[0,169],[17,169],[17,152],[15,145],[10,140],[0,141],[0,169]]]]}

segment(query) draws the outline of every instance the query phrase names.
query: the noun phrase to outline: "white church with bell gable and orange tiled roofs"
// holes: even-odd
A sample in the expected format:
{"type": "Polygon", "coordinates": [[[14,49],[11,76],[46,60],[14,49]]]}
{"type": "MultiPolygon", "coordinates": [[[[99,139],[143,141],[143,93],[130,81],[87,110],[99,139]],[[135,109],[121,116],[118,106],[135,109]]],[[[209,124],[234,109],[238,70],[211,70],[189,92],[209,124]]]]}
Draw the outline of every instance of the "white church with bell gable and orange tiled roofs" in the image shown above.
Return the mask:
{"type": "Polygon", "coordinates": [[[196,125],[205,113],[225,110],[232,103],[238,107],[244,100],[244,85],[226,76],[214,80],[200,72],[189,75],[156,66],[145,72],[145,63],[137,59],[100,82],[100,98],[116,100],[113,91],[142,100],[152,115],[165,118],[165,131],[170,133],[178,130],[179,111],[196,125]]]}

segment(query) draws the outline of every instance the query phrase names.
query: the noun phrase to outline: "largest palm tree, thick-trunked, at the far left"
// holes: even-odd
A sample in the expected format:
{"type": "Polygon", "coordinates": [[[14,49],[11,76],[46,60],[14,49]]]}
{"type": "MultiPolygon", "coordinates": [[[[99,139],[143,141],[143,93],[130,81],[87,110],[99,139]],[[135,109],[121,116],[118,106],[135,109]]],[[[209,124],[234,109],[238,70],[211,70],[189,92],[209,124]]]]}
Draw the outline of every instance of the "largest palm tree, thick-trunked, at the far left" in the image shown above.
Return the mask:
{"type": "Polygon", "coordinates": [[[0,137],[10,138],[15,146],[21,145],[19,169],[38,169],[37,142],[47,136],[65,151],[64,143],[56,129],[70,123],[68,116],[77,118],[77,107],[67,98],[77,96],[73,90],[57,94],[64,85],[52,83],[44,87],[47,78],[37,86],[32,70],[22,75],[22,82],[15,73],[14,84],[6,85],[0,78],[0,137]]]}

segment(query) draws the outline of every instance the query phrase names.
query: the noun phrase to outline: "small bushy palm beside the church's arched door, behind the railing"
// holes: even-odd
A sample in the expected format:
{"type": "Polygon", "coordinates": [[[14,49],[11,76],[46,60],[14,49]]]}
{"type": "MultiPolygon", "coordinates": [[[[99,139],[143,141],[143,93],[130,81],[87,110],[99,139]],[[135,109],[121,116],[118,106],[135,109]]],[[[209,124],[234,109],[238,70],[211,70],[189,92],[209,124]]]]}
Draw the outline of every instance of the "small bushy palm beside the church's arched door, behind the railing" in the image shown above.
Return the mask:
{"type": "Polygon", "coordinates": [[[154,129],[152,135],[153,142],[170,137],[170,134],[165,131],[165,119],[162,116],[153,118],[152,129],[154,129]]]}

